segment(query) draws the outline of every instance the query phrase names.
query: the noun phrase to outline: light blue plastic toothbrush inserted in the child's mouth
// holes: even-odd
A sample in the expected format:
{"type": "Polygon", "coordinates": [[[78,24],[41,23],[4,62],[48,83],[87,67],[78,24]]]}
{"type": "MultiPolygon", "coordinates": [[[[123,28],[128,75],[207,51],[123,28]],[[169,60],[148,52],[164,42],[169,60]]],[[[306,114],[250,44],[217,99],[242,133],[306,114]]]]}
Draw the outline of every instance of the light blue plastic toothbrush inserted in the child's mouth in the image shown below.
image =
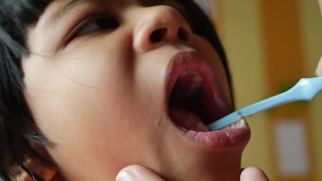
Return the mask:
{"type": "Polygon", "coordinates": [[[262,112],[264,110],[269,110],[283,104],[288,104],[294,101],[309,101],[313,99],[322,91],[322,76],[313,78],[302,78],[297,82],[295,86],[290,88],[284,93],[275,95],[268,99],[264,99],[255,104],[237,110],[226,117],[219,119],[208,125],[208,128],[212,131],[220,130],[225,128],[227,125],[235,123],[245,117],[251,117],[254,114],[262,112]]]}

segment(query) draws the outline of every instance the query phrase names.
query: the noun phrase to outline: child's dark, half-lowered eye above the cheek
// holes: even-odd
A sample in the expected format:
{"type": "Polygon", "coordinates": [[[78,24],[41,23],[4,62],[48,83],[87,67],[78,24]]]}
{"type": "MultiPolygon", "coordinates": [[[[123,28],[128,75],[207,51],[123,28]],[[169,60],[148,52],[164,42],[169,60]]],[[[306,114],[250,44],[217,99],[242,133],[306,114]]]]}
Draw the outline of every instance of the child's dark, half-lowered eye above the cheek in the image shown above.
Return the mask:
{"type": "Polygon", "coordinates": [[[85,19],[74,30],[72,38],[92,34],[99,31],[109,31],[116,29],[120,23],[113,16],[107,14],[96,14],[85,19]]]}

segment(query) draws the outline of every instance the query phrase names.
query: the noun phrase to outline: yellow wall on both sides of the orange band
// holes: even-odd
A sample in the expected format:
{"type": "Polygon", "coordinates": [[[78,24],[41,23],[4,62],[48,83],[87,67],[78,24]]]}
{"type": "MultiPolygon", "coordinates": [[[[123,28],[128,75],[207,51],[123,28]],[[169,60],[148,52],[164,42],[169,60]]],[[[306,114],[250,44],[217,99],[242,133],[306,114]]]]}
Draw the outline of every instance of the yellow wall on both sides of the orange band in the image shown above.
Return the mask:
{"type": "MultiPolygon", "coordinates": [[[[262,1],[266,0],[217,0],[217,27],[222,38],[230,69],[233,73],[237,108],[267,97],[266,47],[264,45],[262,1]],[[246,69],[244,67],[247,67],[246,69]]],[[[267,0],[270,1],[270,0],[267,0]]],[[[322,54],[322,19],[315,0],[298,0],[299,32],[303,43],[305,77],[314,76],[315,66],[322,54]]],[[[287,7],[286,7],[287,8],[287,7]]],[[[322,180],[322,95],[310,102],[310,125],[313,136],[315,160],[314,180],[322,180]]],[[[272,133],[268,128],[268,116],[259,114],[248,119],[252,138],[244,152],[243,166],[257,166],[264,169],[271,180],[276,180],[274,154],[272,154],[272,133]]]]}

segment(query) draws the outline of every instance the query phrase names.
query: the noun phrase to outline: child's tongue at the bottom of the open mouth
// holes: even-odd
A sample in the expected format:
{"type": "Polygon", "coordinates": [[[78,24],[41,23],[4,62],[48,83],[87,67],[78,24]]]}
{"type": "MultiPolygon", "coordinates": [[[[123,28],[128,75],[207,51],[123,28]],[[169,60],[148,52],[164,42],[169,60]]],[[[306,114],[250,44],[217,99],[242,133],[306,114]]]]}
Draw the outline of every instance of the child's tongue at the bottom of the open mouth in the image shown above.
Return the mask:
{"type": "Polygon", "coordinates": [[[193,112],[171,108],[170,117],[180,128],[197,132],[209,131],[209,128],[202,123],[202,119],[193,112]]]}

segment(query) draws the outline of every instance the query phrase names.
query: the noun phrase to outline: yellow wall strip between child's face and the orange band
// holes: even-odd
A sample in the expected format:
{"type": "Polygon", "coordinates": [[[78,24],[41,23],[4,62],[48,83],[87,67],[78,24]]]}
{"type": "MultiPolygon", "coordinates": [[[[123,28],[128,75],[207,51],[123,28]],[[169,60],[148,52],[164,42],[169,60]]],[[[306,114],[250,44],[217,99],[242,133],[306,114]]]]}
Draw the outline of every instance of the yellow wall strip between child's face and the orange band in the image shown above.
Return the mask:
{"type": "MultiPolygon", "coordinates": [[[[264,98],[264,59],[259,1],[224,0],[217,3],[219,32],[233,75],[237,108],[264,98]],[[243,69],[247,67],[247,69],[243,69]]],[[[243,166],[257,166],[272,178],[265,115],[249,118],[252,137],[243,157],[243,166]]]]}

